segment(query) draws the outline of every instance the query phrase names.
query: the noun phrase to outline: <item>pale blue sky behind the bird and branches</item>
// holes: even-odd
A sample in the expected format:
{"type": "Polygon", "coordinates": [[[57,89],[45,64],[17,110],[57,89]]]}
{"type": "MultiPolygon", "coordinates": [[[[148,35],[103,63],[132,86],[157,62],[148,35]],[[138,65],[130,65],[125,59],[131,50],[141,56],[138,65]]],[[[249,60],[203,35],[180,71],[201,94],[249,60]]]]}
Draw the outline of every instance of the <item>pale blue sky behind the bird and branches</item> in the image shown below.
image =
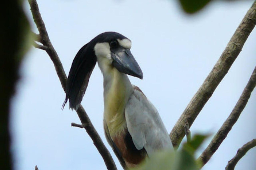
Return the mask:
{"type": "MultiPolygon", "coordinates": [[[[170,132],[209,74],[253,1],[213,2],[196,15],[168,0],[38,0],[49,37],[68,74],[77,51],[102,32],[128,37],[143,80],[130,77],[158,109],[170,132]]],[[[28,4],[26,11],[32,22],[28,4]]],[[[35,26],[33,29],[37,32],[35,26]]],[[[191,127],[216,133],[226,120],[256,65],[256,31],[191,127]]],[[[106,169],[76,113],[61,106],[65,94],[47,53],[32,48],[21,69],[12,107],[15,166],[19,170],[106,169]]],[[[246,142],[256,137],[256,91],[204,170],[224,169],[246,142]]],[[[82,105],[122,169],[103,132],[103,78],[95,67],[82,105]]],[[[211,137],[212,138],[212,137],[211,137]]],[[[210,142],[204,143],[199,153],[210,142]]],[[[254,169],[256,149],[236,169],[254,169]]]]}

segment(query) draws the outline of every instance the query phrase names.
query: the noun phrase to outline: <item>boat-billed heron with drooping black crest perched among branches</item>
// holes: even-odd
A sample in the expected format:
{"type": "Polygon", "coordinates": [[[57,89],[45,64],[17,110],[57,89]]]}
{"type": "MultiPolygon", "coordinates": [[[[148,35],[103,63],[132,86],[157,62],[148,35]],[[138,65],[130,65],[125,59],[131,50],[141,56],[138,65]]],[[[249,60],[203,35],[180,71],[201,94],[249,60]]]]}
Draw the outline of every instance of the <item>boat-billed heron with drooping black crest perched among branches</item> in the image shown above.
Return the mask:
{"type": "Polygon", "coordinates": [[[71,65],[62,105],[69,100],[70,109],[78,109],[98,62],[103,74],[104,132],[124,169],[136,167],[157,151],[173,150],[157,109],[128,78],[143,78],[131,44],[116,32],[104,32],[85,44],[71,65]]]}

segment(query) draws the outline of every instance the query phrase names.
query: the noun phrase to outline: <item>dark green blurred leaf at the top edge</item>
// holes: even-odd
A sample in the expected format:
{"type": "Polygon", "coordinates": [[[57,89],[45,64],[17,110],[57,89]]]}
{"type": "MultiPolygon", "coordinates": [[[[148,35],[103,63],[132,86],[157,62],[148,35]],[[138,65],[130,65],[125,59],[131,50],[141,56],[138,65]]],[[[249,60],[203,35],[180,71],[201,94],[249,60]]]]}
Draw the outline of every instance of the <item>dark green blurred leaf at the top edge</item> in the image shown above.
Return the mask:
{"type": "MultiPolygon", "coordinates": [[[[179,0],[183,10],[188,14],[194,14],[204,8],[210,1],[213,0],[179,0]]],[[[224,0],[233,2],[235,0],[224,0]]],[[[242,0],[244,1],[244,0],[242,0]]]]}

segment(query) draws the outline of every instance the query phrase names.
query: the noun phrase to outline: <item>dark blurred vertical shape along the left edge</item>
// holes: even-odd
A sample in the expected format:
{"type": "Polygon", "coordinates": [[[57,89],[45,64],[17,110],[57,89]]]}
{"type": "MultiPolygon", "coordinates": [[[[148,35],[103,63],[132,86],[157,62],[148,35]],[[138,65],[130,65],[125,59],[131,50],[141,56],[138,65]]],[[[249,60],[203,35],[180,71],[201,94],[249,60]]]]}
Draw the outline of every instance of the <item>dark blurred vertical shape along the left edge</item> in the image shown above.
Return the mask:
{"type": "Polygon", "coordinates": [[[9,131],[11,98],[19,79],[19,67],[31,46],[30,25],[23,0],[3,1],[0,14],[0,169],[12,170],[9,131]]]}

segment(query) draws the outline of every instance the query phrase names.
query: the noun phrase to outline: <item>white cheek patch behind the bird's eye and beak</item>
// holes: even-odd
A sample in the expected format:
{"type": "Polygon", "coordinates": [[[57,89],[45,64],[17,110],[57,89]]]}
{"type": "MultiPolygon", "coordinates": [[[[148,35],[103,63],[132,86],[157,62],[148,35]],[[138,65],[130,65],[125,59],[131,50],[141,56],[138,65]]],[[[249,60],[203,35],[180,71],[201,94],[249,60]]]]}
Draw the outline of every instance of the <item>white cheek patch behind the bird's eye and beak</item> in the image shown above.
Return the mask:
{"type": "Polygon", "coordinates": [[[97,58],[103,57],[111,60],[110,46],[108,42],[100,42],[94,46],[94,52],[97,58]]]}

